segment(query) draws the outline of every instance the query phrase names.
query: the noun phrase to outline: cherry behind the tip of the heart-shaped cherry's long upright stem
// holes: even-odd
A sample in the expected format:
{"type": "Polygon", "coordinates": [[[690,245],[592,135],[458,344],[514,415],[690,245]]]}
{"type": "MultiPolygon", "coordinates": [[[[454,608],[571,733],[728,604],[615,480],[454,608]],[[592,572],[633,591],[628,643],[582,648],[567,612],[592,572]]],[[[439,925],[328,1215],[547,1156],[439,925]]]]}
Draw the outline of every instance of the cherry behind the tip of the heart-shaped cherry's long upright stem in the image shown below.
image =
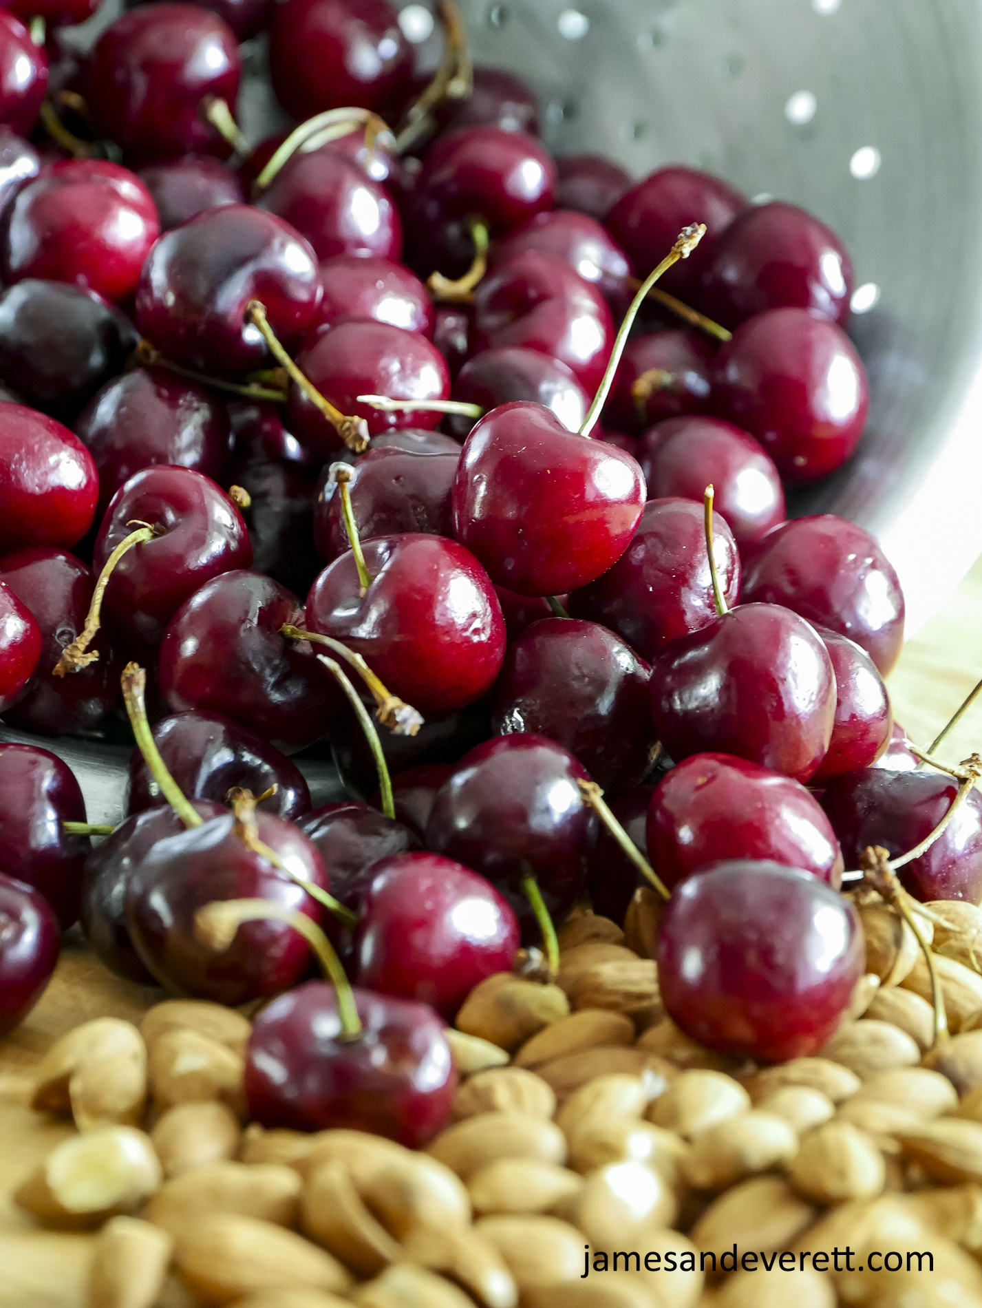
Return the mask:
{"type": "Polygon", "coordinates": [[[698,286],[717,238],[745,204],[740,192],[720,178],[676,164],[625,191],[604,224],[634,264],[635,275],[646,277],[686,224],[705,222],[698,249],[662,277],[666,290],[685,298],[698,286]]]}

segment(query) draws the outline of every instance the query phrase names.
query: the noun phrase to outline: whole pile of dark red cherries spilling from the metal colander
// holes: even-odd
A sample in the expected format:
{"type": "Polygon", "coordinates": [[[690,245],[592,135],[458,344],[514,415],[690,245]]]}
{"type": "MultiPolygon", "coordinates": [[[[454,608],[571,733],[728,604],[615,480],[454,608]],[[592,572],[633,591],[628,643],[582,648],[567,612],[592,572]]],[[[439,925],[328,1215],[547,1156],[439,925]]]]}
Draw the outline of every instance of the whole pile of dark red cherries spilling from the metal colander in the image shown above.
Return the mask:
{"type": "MultiPolygon", "coordinates": [[[[129,670],[97,848],[65,764],[0,744],[0,1031],[80,920],[122,976],[279,997],[256,1120],[421,1143],[443,1022],[584,896],[622,921],[646,857],[679,1025],[819,1049],[863,967],[845,869],[957,791],[892,722],[876,542],[786,521],[866,419],[842,243],[690,167],[550,158],[528,88],[452,43],[417,76],[386,0],[139,4],[80,59],[94,8],[0,14],[0,713],[112,738],[135,662],[153,730],[129,670]],[[250,153],[264,29],[306,126],[250,153]],[[311,811],[289,756],[326,747],[358,798],[311,811]],[[225,900],[269,916],[218,948],[225,900]]],[[[974,791],[904,882],[979,899],[974,791]]]]}

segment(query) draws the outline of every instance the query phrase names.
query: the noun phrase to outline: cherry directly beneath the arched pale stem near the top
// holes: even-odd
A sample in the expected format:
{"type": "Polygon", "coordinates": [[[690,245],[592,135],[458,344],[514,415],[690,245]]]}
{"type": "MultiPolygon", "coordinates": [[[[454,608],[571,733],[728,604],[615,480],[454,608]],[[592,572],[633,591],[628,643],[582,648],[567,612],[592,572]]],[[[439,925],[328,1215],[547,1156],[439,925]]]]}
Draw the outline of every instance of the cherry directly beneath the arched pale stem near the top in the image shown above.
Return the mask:
{"type": "Polygon", "coordinates": [[[293,154],[258,204],[306,237],[318,259],[398,260],[403,251],[401,218],[386,188],[333,145],[293,154]]]}

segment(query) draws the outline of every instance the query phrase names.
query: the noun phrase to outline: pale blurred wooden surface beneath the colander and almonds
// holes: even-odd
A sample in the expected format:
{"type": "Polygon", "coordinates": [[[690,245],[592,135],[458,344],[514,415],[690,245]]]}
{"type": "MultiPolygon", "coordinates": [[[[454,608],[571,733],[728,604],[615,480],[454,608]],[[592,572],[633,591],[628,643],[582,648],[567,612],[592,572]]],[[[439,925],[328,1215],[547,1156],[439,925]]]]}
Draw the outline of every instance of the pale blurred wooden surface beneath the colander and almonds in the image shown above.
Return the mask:
{"type": "MultiPolygon", "coordinates": [[[[896,717],[913,740],[926,746],[981,678],[982,561],[944,610],[907,641],[889,679],[896,717]]],[[[939,752],[956,763],[974,749],[982,752],[982,698],[939,752]]],[[[93,1237],[39,1231],[12,1202],[24,1177],[73,1130],[26,1107],[33,1067],[54,1040],[80,1022],[97,1016],[139,1022],[161,997],[111,976],[73,933],[38,1006],[0,1040],[0,1308],[85,1304],[93,1237]]],[[[171,1291],[161,1308],[184,1301],[171,1291]]]]}

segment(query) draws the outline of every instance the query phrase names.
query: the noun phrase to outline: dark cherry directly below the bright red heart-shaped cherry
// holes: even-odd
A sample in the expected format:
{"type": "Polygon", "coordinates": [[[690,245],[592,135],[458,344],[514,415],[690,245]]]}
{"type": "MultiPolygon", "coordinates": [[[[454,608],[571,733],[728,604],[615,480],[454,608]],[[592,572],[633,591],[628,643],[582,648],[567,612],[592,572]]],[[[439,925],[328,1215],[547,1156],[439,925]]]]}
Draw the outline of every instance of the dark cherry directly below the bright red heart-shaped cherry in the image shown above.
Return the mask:
{"type": "Polygon", "coordinates": [[[509,646],[492,726],[549,736],[604,790],[624,790],[641,781],[655,743],[647,679],[647,663],[605,627],[545,617],[509,646]]]}

